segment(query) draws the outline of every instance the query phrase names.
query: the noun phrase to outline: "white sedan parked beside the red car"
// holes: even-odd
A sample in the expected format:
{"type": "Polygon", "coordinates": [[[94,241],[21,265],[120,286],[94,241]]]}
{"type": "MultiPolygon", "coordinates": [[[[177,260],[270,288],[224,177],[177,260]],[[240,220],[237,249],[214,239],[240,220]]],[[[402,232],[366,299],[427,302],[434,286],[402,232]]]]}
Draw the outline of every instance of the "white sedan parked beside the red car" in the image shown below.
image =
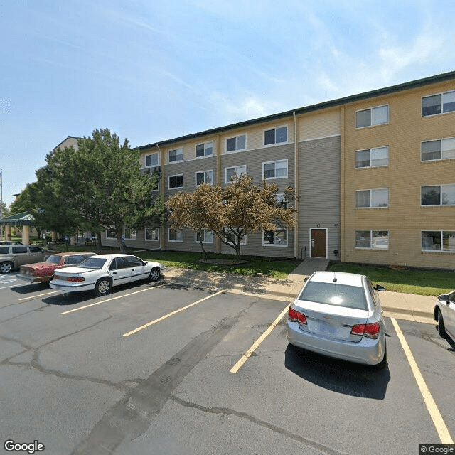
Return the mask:
{"type": "Polygon", "coordinates": [[[77,267],[57,270],[49,285],[64,292],[92,290],[102,296],[119,284],[139,279],[156,282],[164,269],[166,267],[159,262],[143,261],[133,255],[97,255],[77,267]]]}

